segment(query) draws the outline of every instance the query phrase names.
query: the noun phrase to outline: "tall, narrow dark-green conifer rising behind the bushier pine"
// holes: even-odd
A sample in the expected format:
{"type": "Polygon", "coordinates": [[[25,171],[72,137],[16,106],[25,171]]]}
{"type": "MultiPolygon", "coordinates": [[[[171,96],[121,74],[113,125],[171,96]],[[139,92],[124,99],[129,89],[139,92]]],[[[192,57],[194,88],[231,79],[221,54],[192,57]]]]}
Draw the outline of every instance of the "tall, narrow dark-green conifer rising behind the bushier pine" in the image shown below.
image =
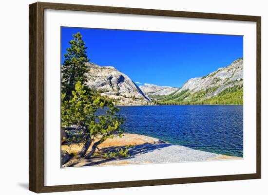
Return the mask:
{"type": "Polygon", "coordinates": [[[85,62],[89,61],[85,51],[87,47],[82,40],[82,35],[77,32],[73,37],[74,39],[69,42],[71,46],[64,54],[65,60],[62,65],[61,90],[62,93],[66,94],[67,100],[70,99],[77,81],[81,81],[82,84],[86,82],[85,74],[88,68],[85,62]]]}

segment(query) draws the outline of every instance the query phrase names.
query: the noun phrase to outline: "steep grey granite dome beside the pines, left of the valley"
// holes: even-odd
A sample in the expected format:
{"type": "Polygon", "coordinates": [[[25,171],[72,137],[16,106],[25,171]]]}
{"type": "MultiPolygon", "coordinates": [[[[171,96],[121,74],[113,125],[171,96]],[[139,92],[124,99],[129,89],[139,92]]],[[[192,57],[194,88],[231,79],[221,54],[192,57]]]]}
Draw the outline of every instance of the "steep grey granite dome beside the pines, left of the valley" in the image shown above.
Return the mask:
{"type": "Polygon", "coordinates": [[[98,66],[86,63],[89,67],[86,85],[101,90],[101,95],[113,98],[115,105],[148,105],[148,98],[126,74],[112,66],[98,66]]]}

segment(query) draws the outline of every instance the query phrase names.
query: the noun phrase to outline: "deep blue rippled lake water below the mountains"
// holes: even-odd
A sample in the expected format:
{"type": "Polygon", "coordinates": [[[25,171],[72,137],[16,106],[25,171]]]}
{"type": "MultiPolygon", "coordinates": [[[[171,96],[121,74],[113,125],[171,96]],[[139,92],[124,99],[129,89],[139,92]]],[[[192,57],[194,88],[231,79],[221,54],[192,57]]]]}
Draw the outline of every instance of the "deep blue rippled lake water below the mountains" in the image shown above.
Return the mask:
{"type": "Polygon", "coordinates": [[[243,106],[118,106],[128,133],[243,157],[243,106]]]}

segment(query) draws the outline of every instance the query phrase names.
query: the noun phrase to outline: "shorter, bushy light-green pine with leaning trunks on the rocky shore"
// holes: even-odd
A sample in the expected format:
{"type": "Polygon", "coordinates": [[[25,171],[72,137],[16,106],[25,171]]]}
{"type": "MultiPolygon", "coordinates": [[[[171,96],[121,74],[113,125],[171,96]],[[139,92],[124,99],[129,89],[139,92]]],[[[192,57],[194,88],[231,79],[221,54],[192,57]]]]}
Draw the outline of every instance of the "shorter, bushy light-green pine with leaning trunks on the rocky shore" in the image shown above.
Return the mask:
{"type": "Polygon", "coordinates": [[[101,96],[93,96],[80,81],[75,85],[70,99],[64,100],[65,93],[61,95],[61,126],[67,128],[75,127],[72,132],[66,131],[68,138],[67,143],[83,143],[81,151],[77,156],[90,158],[97,145],[108,138],[114,138],[115,135],[122,136],[121,124],[125,121],[116,113],[116,108],[112,101],[101,96]],[[104,114],[96,114],[97,109],[107,106],[104,114]],[[91,150],[86,154],[89,147],[91,150]]]}

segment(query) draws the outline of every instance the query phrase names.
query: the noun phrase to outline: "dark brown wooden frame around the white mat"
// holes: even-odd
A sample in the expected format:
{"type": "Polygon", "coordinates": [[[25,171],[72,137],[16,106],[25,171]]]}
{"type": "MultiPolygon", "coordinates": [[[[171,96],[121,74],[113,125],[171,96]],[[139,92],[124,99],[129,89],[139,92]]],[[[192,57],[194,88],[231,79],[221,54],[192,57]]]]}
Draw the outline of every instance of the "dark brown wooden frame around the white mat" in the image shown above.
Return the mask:
{"type": "Polygon", "coordinates": [[[261,17],[171,10],[37,2],[29,5],[29,190],[36,193],[169,185],[261,178],[261,17]],[[253,21],[257,24],[257,158],[255,174],[186,177],[94,184],[44,186],[44,9],[151,16],[253,21]]]}

